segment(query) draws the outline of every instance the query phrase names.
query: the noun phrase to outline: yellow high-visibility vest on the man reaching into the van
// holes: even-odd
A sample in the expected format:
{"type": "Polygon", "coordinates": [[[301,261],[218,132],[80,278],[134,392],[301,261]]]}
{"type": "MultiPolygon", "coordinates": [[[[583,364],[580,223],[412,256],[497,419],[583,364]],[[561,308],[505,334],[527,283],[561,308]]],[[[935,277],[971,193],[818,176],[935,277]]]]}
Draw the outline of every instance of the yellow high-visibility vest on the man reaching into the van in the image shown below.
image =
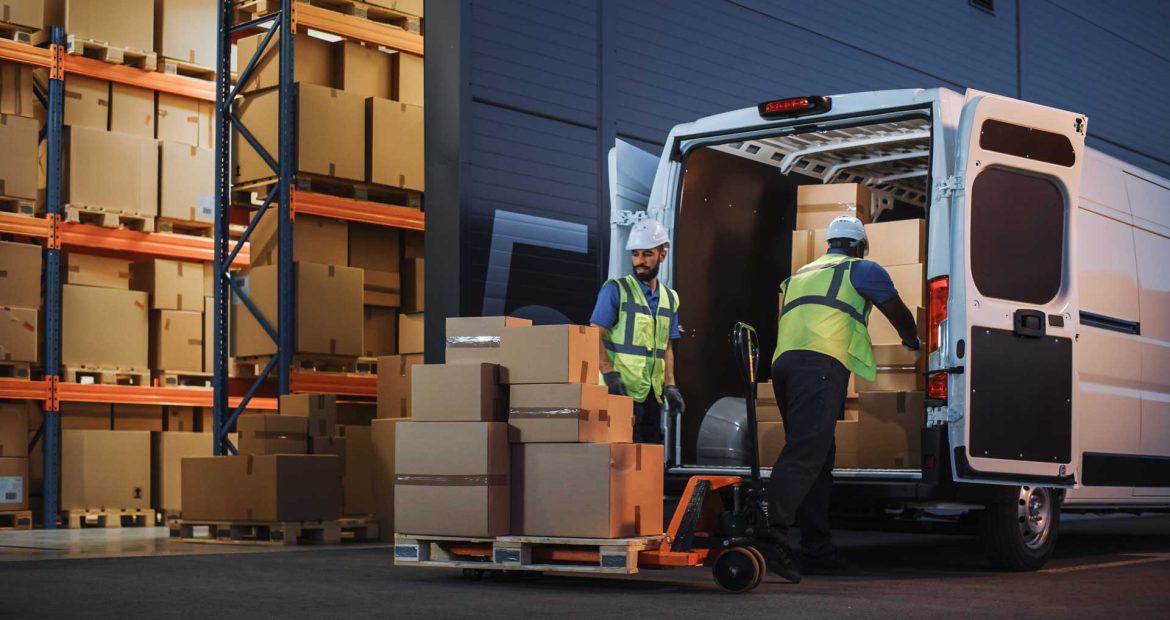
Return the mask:
{"type": "Polygon", "coordinates": [[[874,379],[874,349],[867,328],[873,306],[849,281],[858,260],[826,254],[780,284],[784,308],[773,363],[785,351],[817,351],[859,377],[874,379]]]}

